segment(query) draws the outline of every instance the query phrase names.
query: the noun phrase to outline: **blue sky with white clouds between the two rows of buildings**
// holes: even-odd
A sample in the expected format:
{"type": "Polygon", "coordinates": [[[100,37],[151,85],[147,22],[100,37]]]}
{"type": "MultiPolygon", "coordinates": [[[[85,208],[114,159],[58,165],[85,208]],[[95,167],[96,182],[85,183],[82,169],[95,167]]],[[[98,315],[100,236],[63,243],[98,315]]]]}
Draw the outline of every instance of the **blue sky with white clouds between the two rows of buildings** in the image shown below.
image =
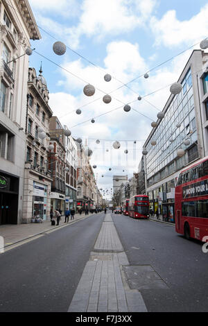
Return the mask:
{"type": "Polygon", "coordinates": [[[82,138],[83,144],[92,149],[90,162],[97,166],[94,174],[98,188],[110,193],[113,175],[128,175],[129,179],[137,172],[144,142],[152,130],[151,122],[157,121],[157,113],[163,110],[171,94],[170,85],[180,77],[193,49],[200,49],[200,41],[208,37],[208,3],[29,3],[42,35],[41,40],[31,41],[35,51],[29,57],[30,67],[38,73],[42,61],[53,115],[71,130],[75,139],[82,138]],[[64,55],[53,52],[56,41],[66,44],[64,55]],[[171,60],[160,65],[168,59],[171,60]],[[144,78],[147,71],[149,77],[144,78]],[[105,74],[112,76],[110,82],[104,80],[105,74]],[[94,85],[94,96],[83,93],[87,84],[94,85]],[[112,96],[110,103],[103,103],[105,94],[112,96]],[[141,101],[137,99],[139,95],[141,101]],[[123,106],[128,103],[131,110],[125,112],[123,106]],[[78,108],[81,114],[76,114],[78,108]],[[100,144],[96,144],[96,139],[100,144]],[[113,148],[114,141],[120,142],[119,149],[113,148]],[[126,149],[128,154],[124,153],[126,149]]]}

